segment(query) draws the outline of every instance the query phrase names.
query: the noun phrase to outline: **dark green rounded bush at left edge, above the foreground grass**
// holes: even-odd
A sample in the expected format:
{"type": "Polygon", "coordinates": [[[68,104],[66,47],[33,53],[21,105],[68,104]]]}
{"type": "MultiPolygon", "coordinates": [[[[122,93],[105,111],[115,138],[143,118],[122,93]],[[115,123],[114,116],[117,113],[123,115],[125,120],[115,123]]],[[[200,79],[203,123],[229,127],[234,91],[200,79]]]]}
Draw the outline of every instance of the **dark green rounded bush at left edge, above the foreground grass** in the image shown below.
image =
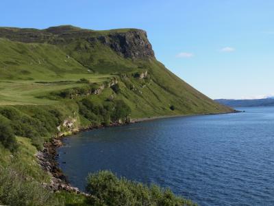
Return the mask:
{"type": "Polygon", "coordinates": [[[0,142],[11,151],[16,150],[17,142],[7,119],[0,116],[0,142]]]}

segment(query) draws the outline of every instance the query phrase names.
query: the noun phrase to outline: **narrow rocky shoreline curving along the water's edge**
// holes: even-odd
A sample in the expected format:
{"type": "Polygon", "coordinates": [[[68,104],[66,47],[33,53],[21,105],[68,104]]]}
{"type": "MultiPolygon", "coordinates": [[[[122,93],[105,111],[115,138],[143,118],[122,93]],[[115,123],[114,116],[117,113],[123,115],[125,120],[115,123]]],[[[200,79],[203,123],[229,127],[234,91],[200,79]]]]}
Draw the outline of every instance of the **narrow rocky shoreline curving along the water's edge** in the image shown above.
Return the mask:
{"type": "MultiPolygon", "coordinates": [[[[158,116],[158,117],[144,117],[144,118],[138,118],[138,119],[132,119],[130,122],[125,123],[113,123],[109,126],[90,126],[88,128],[79,128],[79,130],[73,130],[70,131],[69,135],[75,135],[77,133],[81,133],[88,130],[94,130],[99,128],[108,128],[108,127],[114,127],[114,126],[125,126],[127,124],[135,124],[140,122],[147,122],[152,121],[155,119],[167,119],[167,118],[174,118],[174,117],[192,117],[192,116],[199,116],[199,115],[224,115],[229,113],[240,113],[242,111],[231,111],[226,113],[204,113],[204,114],[192,114],[192,115],[165,115],[165,116],[158,116]]],[[[71,186],[69,183],[69,179],[67,176],[64,175],[62,170],[59,167],[59,163],[57,161],[57,158],[59,156],[57,150],[61,146],[63,146],[62,138],[68,137],[69,135],[56,135],[51,139],[51,141],[47,141],[44,144],[44,149],[42,151],[38,151],[36,153],[36,158],[38,159],[38,164],[44,170],[45,172],[48,172],[51,175],[51,183],[42,183],[45,187],[50,188],[53,190],[53,192],[57,192],[60,190],[65,190],[67,192],[75,192],[77,194],[83,194],[85,196],[89,196],[89,194],[86,194],[85,192],[79,190],[77,187],[71,186]]]]}

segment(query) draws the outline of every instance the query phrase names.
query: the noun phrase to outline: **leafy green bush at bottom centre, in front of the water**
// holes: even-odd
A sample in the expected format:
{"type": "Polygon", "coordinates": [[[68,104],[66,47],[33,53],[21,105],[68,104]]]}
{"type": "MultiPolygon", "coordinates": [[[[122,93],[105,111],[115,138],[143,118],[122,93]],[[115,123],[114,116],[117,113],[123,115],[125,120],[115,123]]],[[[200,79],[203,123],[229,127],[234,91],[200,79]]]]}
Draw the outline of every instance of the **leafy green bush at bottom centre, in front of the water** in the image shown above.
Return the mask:
{"type": "Polygon", "coordinates": [[[119,179],[109,171],[89,174],[87,181],[86,190],[91,194],[92,205],[195,205],[175,196],[171,190],[119,179]]]}

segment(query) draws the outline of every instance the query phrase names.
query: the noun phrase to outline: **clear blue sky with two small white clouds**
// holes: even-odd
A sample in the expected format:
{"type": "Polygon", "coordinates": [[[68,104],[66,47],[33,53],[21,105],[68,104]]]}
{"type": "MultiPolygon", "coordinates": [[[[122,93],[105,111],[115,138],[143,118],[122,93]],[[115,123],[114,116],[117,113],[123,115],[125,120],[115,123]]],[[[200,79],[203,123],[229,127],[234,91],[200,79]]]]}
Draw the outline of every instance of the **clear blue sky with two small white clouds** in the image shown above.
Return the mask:
{"type": "Polygon", "coordinates": [[[273,0],[1,0],[0,26],[147,31],[156,58],[210,98],[274,95],[273,0]]]}

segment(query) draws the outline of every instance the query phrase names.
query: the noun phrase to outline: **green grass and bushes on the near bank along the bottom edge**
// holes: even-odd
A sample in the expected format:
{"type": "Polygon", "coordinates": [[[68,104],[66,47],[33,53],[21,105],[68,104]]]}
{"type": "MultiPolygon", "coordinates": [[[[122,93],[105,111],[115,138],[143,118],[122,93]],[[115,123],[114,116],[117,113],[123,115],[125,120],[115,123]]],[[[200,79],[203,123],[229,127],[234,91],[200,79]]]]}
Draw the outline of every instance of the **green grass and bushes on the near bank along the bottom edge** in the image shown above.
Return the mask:
{"type": "Polygon", "coordinates": [[[45,184],[50,176],[39,167],[36,148],[16,137],[18,148],[10,152],[0,145],[0,204],[3,205],[195,205],[160,187],[119,179],[109,171],[90,174],[90,196],[65,191],[53,193],[45,184]],[[119,203],[119,204],[117,204],[119,203]]]}

